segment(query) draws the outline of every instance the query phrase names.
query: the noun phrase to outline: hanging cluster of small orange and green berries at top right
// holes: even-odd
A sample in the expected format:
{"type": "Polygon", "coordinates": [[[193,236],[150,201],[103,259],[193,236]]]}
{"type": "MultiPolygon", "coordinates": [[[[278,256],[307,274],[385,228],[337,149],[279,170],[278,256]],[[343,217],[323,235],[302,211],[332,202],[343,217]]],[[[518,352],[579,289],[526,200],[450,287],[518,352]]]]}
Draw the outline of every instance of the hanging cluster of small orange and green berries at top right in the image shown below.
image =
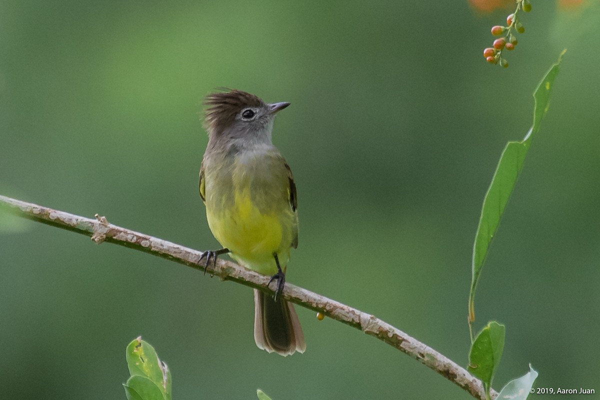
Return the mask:
{"type": "Polygon", "coordinates": [[[517,10],[506,17],[506,26],[492,26],[491,34],[494,36],[502,36],[494,40],[493,47],[488,47],[484,50],[485,61],[490,64],[499,64],[507,68],[508,62],[502,57],[503,50],[514,50],[518,40],[515,34],[525,32],[523,24],[519,20],[519,12],[523,10],[526,13],[531,11],[531,3],[529,0],[517,0],[517,10]]]}

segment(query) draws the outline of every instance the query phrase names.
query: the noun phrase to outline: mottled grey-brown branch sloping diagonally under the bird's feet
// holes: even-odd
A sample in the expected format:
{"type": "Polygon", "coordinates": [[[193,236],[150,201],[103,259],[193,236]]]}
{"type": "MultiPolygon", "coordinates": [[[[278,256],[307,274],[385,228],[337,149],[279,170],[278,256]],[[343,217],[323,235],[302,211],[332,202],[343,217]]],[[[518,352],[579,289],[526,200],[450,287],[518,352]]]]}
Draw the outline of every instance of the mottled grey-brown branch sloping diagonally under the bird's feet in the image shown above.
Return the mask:
{"type": "MultiPolygon", "coordinates": [[[[106,221],[106,218],[97,214],[96,219],[89,219],[4,196],[0,196],[0,207],[23,218],[91,236],[96,243],[115,243],[167,258],[194,269],[204,269],[203,266],[199,266],[197,263],[202,252],[118,227],[110,224],[106,221]]],[[[223,280],[238,282],[260,290],[269,290],[267,286],[269,276],[260,275],[231,261],[219,259],[216,266],[211,263],[206,271],[211,275],[217,275],[223,280]]],[[[322,312],[329,318],[360,329],[368,335],[375,336],[462,387],[476,399],[485,399],[481,381],[470,375],[460,365],[433,350],[433,348],[419,342],[385,321],[289,283],[286,283],[283,297],[292,303],[322,312]]],[[[498,395],[493,390],[491,394],[493,399],[498,395]]]]}

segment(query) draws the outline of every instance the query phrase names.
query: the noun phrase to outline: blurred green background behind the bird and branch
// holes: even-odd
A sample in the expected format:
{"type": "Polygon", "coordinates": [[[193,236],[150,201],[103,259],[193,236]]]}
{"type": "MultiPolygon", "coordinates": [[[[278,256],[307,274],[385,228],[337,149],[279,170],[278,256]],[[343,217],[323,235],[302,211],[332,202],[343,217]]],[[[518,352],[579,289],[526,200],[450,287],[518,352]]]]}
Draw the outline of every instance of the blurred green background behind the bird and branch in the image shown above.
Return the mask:
{"type": "MultiPolygon", "coordinates": [[[[481,202],[567,47],[475,326],[506,324],[497,389],[531,362],[536,387],[600,393],[598,8],[533,2],[503,70],[482,50],[506,14],[466,1],[0,1],[0,194],[214,249],[197,189],[202,98],[227,86],[289,101],[274,129],[299,194],[288,281],[466,366],[481,202]]],[[[249,288],[2,221],[0,398],[124,399],[138,335],[178,399],[254,399],[257,387],[274,400],[470,398],[303,308],[306,353],[267,354],[249,288]]]]}

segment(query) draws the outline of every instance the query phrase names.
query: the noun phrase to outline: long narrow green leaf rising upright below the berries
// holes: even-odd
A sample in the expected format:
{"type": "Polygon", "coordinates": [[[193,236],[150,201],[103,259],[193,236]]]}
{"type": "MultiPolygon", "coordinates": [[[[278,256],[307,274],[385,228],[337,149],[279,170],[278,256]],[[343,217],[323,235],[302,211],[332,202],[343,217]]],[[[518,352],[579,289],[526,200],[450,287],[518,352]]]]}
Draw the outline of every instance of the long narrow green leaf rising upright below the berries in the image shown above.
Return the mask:
{"type": "Polygon", "coordinates": [[[564,53],[563,51],[560,54],[558,61],[544,75],[538,88],[533,93],[535,107],[533,108],[532,127],[520,142],[508,142],[500,156],[500,161],[496,167],[496,172],[494,172],[490,187],[485,194],[481,216],[479,217],[479,225],[475,234],[475,244],[473,245],[473,276],[469,293],[470,322],[475,321],[475,288],[481,276],[485,257],[488,254],[491,240],[500,224],[500,218],[502,218],[506,203],[508,203],[521,169],[523,169],[525,156],[527,155],[533,136],[538,133],[541,121],[550,106],[550,93],[554,85],[554,79],[556,79],[556,75],[559,73],[559,65],[564,53]]]}

